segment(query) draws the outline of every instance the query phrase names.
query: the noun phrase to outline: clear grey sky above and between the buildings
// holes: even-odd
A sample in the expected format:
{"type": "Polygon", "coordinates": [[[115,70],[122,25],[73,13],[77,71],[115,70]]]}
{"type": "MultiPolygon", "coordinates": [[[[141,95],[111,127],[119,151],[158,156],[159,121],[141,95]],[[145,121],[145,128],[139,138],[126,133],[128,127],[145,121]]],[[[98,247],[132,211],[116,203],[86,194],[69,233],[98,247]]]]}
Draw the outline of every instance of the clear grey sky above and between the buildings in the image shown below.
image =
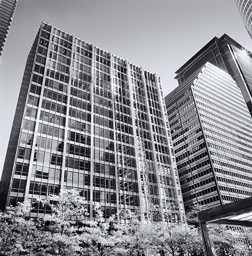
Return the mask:
{"type": "Polygon", "coordinates": [[[26,58],[42,21],[161,76],[164,95],[174,72],[214,36],[226,33],[252,52],[231,0],[18,0],[0,60],[0,174],[26,58]]]}

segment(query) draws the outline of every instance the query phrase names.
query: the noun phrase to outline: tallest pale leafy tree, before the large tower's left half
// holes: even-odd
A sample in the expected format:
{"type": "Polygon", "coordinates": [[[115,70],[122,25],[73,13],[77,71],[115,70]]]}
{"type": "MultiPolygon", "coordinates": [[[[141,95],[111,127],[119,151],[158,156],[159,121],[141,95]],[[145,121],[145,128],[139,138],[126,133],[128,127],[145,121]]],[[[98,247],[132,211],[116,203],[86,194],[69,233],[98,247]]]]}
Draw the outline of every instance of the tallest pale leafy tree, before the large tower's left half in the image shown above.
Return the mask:
{"type": "Polygon", "coordinates": [[[85,198],[79,191],[65,190],[50,195],[39,203],[51,209],[51,215],[39,219],[47,244],[44,249],[51,255],[74,255],[79,250],[78,221],[87,216],[85,198]]]}

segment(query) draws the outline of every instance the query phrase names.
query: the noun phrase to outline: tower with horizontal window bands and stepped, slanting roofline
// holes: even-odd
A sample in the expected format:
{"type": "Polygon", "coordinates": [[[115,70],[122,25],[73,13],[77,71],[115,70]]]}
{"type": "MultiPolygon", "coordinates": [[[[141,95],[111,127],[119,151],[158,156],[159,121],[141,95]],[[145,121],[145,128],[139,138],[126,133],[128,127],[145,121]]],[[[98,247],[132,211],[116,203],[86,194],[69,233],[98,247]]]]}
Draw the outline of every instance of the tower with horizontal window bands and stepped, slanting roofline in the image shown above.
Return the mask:
{"type": "Polygon", "coordinates": [[[166,102],[185,209],[250,196],[252,120],[231,76],[207,63],[166,102]]]}

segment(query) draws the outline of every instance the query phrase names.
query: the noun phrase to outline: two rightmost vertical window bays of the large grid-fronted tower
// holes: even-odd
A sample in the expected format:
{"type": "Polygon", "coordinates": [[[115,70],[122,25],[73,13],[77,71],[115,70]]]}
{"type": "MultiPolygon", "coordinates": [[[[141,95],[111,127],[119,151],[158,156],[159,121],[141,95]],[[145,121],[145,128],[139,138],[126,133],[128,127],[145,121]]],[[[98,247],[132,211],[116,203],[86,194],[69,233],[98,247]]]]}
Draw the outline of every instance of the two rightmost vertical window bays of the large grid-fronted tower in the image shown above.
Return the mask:
{"type": "MultiPolygon", "coordinates": [[[[182,200],[179,200],[179,188],[174,190],[176,178],[168,143],[169,136],[166,133],[167,116],[160,90],[160,78],[132,64],[129,75],[142,205],[146,209],[155,204],[169,207],[175,203],[180,207],[182,200]]],[[[123,110],[126,113],[127,109],[123,110]]],[[[157,218],[154,210],[149,210],[148,215],[151,219],[157,218]]],[[[170,221],[175,220],[176,214],[171,216],[170,221]]]]}

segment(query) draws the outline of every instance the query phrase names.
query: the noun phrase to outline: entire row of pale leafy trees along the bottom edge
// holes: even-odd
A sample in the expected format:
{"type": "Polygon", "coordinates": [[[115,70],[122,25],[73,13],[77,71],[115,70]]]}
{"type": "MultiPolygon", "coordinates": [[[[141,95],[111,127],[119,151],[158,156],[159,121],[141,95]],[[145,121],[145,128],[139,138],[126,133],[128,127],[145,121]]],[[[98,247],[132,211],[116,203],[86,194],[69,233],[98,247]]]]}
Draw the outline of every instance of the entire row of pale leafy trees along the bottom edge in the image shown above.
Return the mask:
{"type": "MultiPolygon", "coordinates": [[[[94,206],[96,221],[88,220],[85,199],[78,191],[62,191],[39,203],[51,215],[36,221],[23,216],[31,210],[28,202],[0,212],[0,256],[175,256],[190,253],[204,255],[195,206],[187,215],[188,224],[149,222],[144,212],[121,211],[105,220],[100,205],[94,206]]],[[[215,256],[252,255],[252,230],[213,226],[209,236],[215,256]]]]}

